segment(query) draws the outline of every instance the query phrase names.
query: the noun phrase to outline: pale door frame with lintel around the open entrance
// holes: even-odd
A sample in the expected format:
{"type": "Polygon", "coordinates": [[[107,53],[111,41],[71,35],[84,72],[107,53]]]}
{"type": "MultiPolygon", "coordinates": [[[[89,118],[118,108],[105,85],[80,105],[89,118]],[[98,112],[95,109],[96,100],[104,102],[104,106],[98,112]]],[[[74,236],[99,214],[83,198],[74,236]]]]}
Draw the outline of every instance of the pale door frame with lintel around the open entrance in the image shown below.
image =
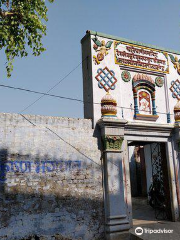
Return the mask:
{"type": "MultiPolygon", "coordinates": [[[[130,171],[129,171],[129,154],[128,154],[128,142],[131,141],[141,141],[141,142],[162,142],[165,143],[166,148],[166,158],[167,158],[167,168],[168,168],[168,180],[170,186],[170,199],[171,199],[171,213],[172,221],[178,221],[179,219],[179,206],[177,201],[177,186],[175,172],[175,153],[173,149],[173,127],[167,124],[152,125],[147,123],[137,124],[129,123],[125,127],[125,141],[127,147],[125,148],[126,157],[124,172],[126,173],[126,181],[130,183],[130,171]]],[[[178,186],[179,187],[179,186],[178,186]]],[[[131,186],[130,184],[125,184],[126,188],[126,199],[127,199],[127,212],[129,213],[129,219],[132,223],[132,202],[131,202],[131,186]],[[127,187],[128,186],[128,187],[127,187]],[[129,188],[127,190],[127,188],[129,188]]]]}

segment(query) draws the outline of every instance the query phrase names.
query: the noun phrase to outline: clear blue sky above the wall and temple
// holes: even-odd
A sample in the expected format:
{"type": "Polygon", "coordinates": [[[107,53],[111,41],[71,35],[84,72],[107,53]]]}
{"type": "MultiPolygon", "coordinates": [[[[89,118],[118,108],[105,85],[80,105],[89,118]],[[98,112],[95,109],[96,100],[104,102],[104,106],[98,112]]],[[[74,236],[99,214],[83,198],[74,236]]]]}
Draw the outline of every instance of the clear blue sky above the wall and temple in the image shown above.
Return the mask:
{"type": "MultiPolygon", "coordinates": [[[[180,51],[178,0],[55,0],[49,8],[47,36],[41,56],[16,59],[6,77],[0,51],[0,84],[47,92],[82,61],[81,38],[94,30],[180,51]]],[[[83,99],[82,66],[77,67],[51,94],[83,99]]],[[[0,112],[19,113],[40,95],[0,87],[0,112]]],[[[83,118],[83,104],[43,97],[24,114],[83,118]]]]}

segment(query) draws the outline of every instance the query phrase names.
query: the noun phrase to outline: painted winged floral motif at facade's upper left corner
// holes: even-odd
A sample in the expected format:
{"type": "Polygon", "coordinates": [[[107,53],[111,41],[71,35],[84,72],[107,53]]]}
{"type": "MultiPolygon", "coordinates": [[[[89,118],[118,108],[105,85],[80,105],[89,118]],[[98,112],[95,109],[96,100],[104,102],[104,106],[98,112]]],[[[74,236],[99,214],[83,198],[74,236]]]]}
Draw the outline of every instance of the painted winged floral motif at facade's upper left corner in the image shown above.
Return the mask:
{"type": "Polygon", "coordinates": [[[97,37],[92,39],[94,42],[93,48],[97,52],[97,56],[93,56],[95,64],[99,65],[104,57],[108,54],[108,51],[111,49],[113,41],[108,41],[105,43],[104,40],[99,41],[97,37]]]}

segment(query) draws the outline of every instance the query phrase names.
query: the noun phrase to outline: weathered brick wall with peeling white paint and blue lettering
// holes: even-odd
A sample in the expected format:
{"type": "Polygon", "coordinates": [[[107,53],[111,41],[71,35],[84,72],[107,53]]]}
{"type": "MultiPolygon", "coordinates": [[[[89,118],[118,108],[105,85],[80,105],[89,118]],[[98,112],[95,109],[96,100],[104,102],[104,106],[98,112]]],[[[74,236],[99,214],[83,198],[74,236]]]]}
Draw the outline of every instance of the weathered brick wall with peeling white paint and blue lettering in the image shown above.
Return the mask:
{"type": "Polygon", "coordinates": [[[0,114],[0,239],[103,238],[101,153],[91,120],[25,117],[36,126],[0,114]]]}

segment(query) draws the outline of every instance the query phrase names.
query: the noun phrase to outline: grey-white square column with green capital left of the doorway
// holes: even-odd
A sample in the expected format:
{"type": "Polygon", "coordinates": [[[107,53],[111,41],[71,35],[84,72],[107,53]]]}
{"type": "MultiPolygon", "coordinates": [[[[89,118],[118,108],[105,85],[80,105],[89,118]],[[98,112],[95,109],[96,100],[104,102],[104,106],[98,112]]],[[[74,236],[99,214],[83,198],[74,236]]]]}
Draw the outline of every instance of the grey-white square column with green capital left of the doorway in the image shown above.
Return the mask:
{"type": "MultiPolygon", "coordinates": [[[[131,227],[128,211],[126,176],[129,161],[124,127],[127,121],[102,118],[98,121],[103,142],[104,204],[106,239],[119,239],[121,232],[131,227]],[[128,162],[127,162],[128,161],[128,162]]],[[[129,174],[129,170],[128,170],[129,174]]],[[[131,206],[130,206],[131,207],[131,206]]]]}

